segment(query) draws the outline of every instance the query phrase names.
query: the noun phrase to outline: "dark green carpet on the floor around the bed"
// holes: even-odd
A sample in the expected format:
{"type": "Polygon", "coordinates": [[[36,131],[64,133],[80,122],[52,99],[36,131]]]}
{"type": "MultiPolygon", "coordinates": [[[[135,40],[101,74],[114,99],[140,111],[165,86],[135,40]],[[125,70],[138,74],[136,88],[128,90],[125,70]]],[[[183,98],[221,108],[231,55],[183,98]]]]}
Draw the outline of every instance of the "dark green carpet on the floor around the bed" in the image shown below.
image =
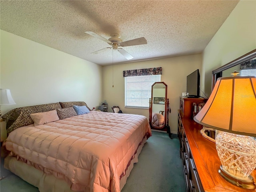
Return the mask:
{"type": "MultiPolygon", "coordinates": [[[[152,131],[122,192],[185,192],[185,181],[177,135],[172,140],[165,132],[152,131]]],[[[1,177],[6,170],[2,168],[1,177]]],[[[0,181],[1,192],[38,192],[14,174],[6,174],[0,181]]]]}

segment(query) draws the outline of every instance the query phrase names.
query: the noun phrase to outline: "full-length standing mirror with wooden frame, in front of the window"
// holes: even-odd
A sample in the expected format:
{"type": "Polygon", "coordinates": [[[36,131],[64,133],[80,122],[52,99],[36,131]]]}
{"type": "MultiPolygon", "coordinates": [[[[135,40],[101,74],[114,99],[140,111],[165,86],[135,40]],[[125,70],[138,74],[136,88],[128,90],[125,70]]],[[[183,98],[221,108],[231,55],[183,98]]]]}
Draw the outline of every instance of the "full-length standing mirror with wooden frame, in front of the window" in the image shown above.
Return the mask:
{"type": "Polygon", "coordinates": [[[166,130],[167,85],[155,82],[151,87],[149,122],[152,129],[166,130]]]}

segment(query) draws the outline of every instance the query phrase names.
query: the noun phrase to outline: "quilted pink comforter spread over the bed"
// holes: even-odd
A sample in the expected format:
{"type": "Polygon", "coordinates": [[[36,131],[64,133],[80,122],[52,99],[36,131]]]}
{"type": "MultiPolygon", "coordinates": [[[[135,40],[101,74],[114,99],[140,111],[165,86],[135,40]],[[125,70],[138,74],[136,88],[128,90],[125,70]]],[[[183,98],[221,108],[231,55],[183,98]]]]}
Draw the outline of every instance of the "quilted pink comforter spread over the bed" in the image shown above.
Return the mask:
{"type": "Polygon", "coordinates": [[[120,176],[149,136],[144,116],[91,111],[20,127],[9,134],[6,149],[45,172],[64,175],[72,190],[120,192],[120,176]]]}

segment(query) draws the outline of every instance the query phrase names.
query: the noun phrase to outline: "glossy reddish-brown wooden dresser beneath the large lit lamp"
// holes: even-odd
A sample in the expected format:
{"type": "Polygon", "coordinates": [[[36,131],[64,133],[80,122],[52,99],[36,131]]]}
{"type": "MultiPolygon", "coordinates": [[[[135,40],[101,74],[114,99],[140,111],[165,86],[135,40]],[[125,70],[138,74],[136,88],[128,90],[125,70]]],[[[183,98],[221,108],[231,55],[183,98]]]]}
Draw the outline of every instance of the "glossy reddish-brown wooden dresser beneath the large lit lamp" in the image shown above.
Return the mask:
{"type": "MultiPolygon", "coordinates": [[[[255,192],[226,181],[218,173],[220,159],[215,143],[200,134],[202,125],[192,118],[182,117],[178,110],[178,137],[180,157],[187,192],[255,192]]],[[[256,181],[256,170],[252,176],[256,181]]]]}

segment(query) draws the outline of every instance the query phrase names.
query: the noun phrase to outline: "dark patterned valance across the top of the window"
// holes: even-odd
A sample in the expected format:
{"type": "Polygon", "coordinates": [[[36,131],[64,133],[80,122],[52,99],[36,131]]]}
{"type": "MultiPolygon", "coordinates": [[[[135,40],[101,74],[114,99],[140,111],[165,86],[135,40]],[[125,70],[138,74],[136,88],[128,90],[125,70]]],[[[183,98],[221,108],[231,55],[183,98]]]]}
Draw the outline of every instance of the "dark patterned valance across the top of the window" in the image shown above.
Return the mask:
{"type": "Polygon", "coordinates": [[[123,71],[123,77],[162,75],[162,67],[123,71]]]}

